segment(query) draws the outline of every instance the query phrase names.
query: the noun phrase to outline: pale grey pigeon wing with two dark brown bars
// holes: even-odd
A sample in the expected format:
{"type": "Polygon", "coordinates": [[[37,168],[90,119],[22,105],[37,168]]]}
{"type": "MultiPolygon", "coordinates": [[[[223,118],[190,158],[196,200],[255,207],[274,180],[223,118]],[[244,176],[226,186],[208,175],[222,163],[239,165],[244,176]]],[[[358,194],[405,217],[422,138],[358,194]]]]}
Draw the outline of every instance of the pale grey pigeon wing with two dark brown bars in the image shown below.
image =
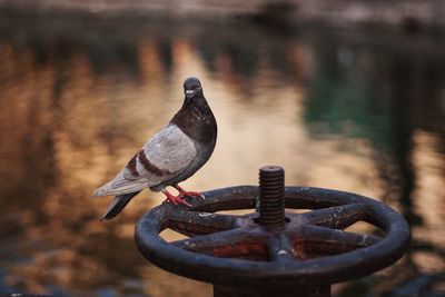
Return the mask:
{"type": "Polygon", "coordinates": [[[113,180],[93,196],[122,195],[150,188],[180,175],[197,157],[194,141],[176,125],[156,133],[113,180]]]}

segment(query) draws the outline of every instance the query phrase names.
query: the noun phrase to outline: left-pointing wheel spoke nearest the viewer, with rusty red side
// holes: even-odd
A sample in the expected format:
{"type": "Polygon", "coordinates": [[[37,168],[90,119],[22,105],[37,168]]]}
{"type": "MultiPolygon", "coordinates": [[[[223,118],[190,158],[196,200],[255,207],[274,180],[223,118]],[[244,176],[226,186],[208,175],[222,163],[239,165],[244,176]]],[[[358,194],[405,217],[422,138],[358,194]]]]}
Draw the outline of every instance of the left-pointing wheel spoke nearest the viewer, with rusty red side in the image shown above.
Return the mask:
{"type": "Polygon", "coordinates": [[[264,258],[266,237],[246,231],[244,228],[215,234],[200,235],[192,238],[170,242],[190,251],[216,257],[264,258]]]}

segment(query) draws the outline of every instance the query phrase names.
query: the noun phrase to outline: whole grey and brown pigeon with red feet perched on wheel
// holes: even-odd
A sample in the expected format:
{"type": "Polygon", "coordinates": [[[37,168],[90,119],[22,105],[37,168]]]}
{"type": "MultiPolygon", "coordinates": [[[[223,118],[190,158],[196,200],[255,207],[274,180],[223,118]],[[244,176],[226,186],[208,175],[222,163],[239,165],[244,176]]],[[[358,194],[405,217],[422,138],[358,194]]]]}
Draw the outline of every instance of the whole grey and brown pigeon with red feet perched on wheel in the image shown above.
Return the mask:
{"type": "Polygon", "coordinates": [[[191,207],[187,197],[204,196],[187,191],[178,182],[191,177],[214,152],[217,122],[197,78],[184,82],[182,107],[167,127],[150,138],[109,182],[93,191],[93,196],[116,196],[100,220],[116,217],[141,190],[161,191],[166,200],[191,207]],[[170,194],[171,186],[178,195],[170,194]]]}

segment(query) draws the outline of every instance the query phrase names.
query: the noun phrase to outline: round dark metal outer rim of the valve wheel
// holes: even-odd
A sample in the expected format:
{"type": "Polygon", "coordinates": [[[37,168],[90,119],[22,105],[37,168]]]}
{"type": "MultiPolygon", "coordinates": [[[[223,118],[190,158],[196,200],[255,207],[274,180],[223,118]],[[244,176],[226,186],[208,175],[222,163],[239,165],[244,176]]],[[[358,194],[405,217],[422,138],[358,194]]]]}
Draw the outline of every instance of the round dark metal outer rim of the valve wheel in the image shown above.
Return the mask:
{"type": "MultiPolygon", "coordinates": [[[[194,200],[191,211],[249,209],[258,196],[256,186],[238,186],[204,192],[205,200],[194,200]],[[246,208],[246,206],[249,206],[246,208]]],[[[335,256],[304,261],[250,261],[218,258],[174,247],[159,232],[168,220],[169,211],[178,211],[170,204],[162,204],[145,214],[138,221],[135,239],[139,251],[155,265],[194,279],[218,285],[255,285],[267,280],[267,286],[293,283],[327,285],[358,278],[383,269],[398,260],[411,241],[405,219],[390,207],[356,194],[309,187],[286,187],[286,206],[305,205],[312,209],[366,202],[372,224],[386,231],[380,242],[335,256]]],[[[295,207],[290,207],[295,208],[295,207]]],[[[187,211],[187,209],[184,209],[187,211]]],[[[184,211],[180,209],[179,211],[184,211]]]]}

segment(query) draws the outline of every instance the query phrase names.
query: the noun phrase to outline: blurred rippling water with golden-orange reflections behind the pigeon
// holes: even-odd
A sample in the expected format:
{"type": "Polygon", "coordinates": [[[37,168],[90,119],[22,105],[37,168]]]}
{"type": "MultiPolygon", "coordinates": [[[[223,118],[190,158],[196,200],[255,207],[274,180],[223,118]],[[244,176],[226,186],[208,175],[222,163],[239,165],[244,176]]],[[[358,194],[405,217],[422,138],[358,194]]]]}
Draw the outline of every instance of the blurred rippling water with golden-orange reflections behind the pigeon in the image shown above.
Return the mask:
{"type": "Polygon", "coordinates": [[[211,296],[136,251],[135,221],[160,196],[110,224],[98,221],[107,200],[90,198],[195,75],[220,132],[185,186],[256,184],[260,166],[279,164],[288,185],[379,198],[409,220],[413,247],[336,296],[443,294],[444,40],[326,30],[2,16],[0,291],[211,296]]]}

